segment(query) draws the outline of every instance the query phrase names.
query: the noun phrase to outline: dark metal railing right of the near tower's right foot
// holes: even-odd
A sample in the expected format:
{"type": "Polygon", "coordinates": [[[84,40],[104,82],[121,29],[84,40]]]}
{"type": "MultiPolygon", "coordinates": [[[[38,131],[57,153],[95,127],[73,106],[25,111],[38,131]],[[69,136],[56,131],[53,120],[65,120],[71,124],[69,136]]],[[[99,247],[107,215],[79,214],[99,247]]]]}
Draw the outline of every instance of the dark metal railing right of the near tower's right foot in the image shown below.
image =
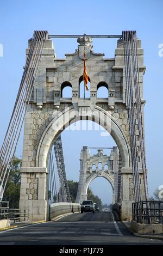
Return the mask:
{"type": "Polygon", "coordinates": [[[163,223],[163,201],[140,201],[132,204],[133,221],[163,223]]]}

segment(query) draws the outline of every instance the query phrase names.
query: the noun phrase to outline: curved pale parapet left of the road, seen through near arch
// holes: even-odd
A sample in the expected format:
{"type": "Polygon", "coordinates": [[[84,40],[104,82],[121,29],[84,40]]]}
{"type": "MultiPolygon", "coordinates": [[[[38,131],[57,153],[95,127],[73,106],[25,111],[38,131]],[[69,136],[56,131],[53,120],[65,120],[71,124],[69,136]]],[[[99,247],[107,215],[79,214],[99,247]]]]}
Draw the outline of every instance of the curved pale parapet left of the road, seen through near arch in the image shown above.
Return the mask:
{"type": "Polygon", "coordinates": [[[80,204],[75,203],[53,203],[49,205],[49,221],[69,212],[80,212],[80,204]]]}

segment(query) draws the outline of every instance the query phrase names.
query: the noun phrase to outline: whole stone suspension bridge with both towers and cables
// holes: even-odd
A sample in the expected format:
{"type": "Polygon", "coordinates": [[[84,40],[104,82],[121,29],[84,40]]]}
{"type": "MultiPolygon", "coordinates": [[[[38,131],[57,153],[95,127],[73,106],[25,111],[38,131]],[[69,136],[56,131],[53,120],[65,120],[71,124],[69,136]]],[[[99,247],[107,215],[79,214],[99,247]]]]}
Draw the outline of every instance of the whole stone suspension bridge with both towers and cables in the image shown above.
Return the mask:
{"type": "MultiPolygon", "coordinates": [[[[121,220],[135,216],[142,223],[142,202],[145,202],[143,214],[151,223],[143,127],[146,67],[136,31],[123,31],[122,35],[50,35],[47,31],[35,31],[26,54],[20,88],[0,153],[1,201],[24,124],[20,208],[29,210],[31,220],[52,219],[56,212],[59,215],[80,211],[80,203],[87,198],[89,182],[103,175],[114,190],[113,200],[121,209],[118,212],[121,220]],[[65,59],[58,59],[52,38],[77,38],[78,49],[66,53],[65,59]],[[115,58],[95,53],[93,38],[117,38],[115,58]],[[80,94],[84,51],[90,81],[89,97],[80,94]],[[66,87],[71,88],[71,97],[63,96],[66,87]],[[97,96],[101,87],[108,89],[105,98],[97,96]],[[89,148],[83,147],[78,193],[76,203],[72,203],[61,132],[78,120],[91,120],[101,125],[115,140],[117,149],[112,149],[114,167],[106,172],[103,169],[106,157],[99,154],[91,159],[89,148]],[[97,168],[98,157],[102,157],[101,172],[97,168]],[[95,164],[94,170],[91,164],[95,164]]],[[[83,89],[85,91],[85,87],[83,89]]],[[[110,158],[107,161],[111,161],[110,158]]]]}

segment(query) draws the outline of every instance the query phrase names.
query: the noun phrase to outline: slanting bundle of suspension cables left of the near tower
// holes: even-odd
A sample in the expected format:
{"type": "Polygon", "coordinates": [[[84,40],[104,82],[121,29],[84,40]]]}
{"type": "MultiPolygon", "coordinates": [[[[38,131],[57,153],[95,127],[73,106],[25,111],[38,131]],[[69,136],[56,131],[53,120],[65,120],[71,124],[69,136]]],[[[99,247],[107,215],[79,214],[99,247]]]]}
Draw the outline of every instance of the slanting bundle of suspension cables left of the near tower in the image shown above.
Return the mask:
{"type": "Polygon", "coordinates": [[[47,36],[47,31],[35,31],[33,39],[31,40],[20,88],[18,89],[14,109],[0,151],[1,199],[3,197],[5,185],[7,184],[11,162],[15,155],[18,139],[20,138],[24,117],[33,92],[34,80],[47,36]]]}

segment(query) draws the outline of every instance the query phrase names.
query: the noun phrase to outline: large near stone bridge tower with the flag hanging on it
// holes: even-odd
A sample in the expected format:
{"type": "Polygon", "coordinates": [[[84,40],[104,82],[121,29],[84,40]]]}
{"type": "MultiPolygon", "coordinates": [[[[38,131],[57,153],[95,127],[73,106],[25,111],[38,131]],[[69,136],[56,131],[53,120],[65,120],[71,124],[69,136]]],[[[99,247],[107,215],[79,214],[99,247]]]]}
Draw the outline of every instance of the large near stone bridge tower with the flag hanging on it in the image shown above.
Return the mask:
{"type": "MultiPolygon", "coordinates": [[[[109,40],[109,39],[107,39],[109,40]]],[[[29,46],[32,40],[29,40],[29,46]]],[[[117,41],[115,58],[104,58],[104,53],[92,50],[92,40],[84,35],[78,39],[78,49],[59,59],[51,39],[46,39],[34,81],[34,90],[24,122],[23,157],[21,168],[20,208],[30,210],[31,220],[46,220],[48,216],[47,162],[55,138],[70,124],[92,120],[104,127],[115,140],[122,157],[122,220],[131,217],[134,202],[133,168],[129,139],[124,71],[123,41],[117,41]],[[86,69],[89,76],[90,95],[83,98],[80,87],[83,81],[83,51],[86,51],[86,69]],[[71,89],[71,96],[64,97],[64,90],[71,89]],[[107,95],[98,97],[98,90],[105,87],[107,95]]],[[[143,100],[143,49],[137,39],[142,109],[143,100]]],[[[29,47],[26,54],[29,53],[29,47]]],[[[137,121],[137,120],[136,120],[137,121]]],[[[139,138],[139,131],[136,131],[139,138]]],[[[143,175],[141,171],[143,199],[143,175]]],[[[86,168],[86,167],[85,167],[86,168]]],[[[87,169],[84,169],[85,171],[87,169]]],[[[90,169],[89,169],[90,172],[90,169]]]]}

